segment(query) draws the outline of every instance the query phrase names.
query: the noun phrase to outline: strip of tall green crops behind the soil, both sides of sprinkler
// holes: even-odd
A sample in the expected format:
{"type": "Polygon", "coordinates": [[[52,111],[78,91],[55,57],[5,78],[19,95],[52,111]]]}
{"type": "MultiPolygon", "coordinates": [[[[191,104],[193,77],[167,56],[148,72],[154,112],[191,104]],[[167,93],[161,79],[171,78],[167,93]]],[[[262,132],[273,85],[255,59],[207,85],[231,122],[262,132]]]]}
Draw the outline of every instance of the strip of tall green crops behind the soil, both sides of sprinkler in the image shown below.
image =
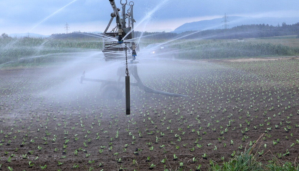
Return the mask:
{"type": "MultiPolygon", "coordinates": [[[[296,36],[238,40],[149,40],[141,39],[139,46],[168,42],[179,49],[179,59],[223,59],[240,57],[294,56],[299,54],[296,36]]],[[[99,52],[102,40],[55,38],[1,38],[0,66],[53,63],[71,60],[71,54],[86,51],[99,52]]],[[[140,48],[142,51],[142,48],[140,48]]]]}

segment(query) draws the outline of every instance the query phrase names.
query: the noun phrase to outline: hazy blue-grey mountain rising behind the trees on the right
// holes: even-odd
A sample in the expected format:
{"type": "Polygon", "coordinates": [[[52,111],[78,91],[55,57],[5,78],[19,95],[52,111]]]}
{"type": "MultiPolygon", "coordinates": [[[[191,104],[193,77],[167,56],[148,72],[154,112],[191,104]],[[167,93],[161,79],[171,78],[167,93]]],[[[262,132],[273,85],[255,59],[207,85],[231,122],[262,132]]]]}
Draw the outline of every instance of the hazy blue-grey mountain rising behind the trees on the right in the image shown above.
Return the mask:
{"type": "MultiPolygon", "coordinates": [[[[210,30],[210,29],[222,29],[224,23],[223,18],[216,18],[211,20],[202,20],[197,22],[185,23],[176,28],[174,33],[182,33],[185,31],[199,31],[199,30],[210,30]]],[[[238,25],[250,25],[250,24],[269,24],[273,26],[282,25],[285,22],[287,25],[295,24],[299,22],[299,17],[290,18],[277,18],[277,17],[240,17],[240,16],[228,16],[227,19],[228,28],[236,27],[238,25]]]]}

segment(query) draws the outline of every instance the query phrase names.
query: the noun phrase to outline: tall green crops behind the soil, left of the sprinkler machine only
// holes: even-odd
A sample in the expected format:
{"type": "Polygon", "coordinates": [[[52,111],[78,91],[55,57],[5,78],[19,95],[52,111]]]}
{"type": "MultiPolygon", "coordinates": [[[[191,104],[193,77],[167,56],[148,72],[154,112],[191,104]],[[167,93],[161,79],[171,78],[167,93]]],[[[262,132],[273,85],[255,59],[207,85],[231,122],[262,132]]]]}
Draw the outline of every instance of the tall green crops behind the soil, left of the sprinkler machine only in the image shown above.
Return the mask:
{"type": "Polygon", "coordinates": [[[1,38],[0,64],[49,63],[71,60],[67,54],[102,49],[102,41],[52,38],[1,38]]]}

